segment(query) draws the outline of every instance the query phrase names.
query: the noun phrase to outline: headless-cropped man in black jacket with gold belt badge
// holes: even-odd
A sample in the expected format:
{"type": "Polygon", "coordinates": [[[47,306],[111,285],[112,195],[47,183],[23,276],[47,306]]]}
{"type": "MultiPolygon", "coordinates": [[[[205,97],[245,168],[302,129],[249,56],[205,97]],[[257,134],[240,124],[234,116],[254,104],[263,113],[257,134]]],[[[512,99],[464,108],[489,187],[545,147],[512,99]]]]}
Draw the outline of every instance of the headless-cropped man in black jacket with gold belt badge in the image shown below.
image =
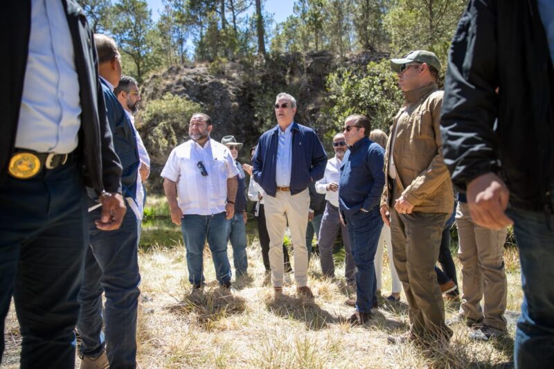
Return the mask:
{"type": "Polygon", "coordinates": [[[13,295],[21,368],[73,368],[85,186],[100,195],[95,227],[118,228],[121,166],[78,4],[8,1],[0,18],[0,359],[13,295]]]}

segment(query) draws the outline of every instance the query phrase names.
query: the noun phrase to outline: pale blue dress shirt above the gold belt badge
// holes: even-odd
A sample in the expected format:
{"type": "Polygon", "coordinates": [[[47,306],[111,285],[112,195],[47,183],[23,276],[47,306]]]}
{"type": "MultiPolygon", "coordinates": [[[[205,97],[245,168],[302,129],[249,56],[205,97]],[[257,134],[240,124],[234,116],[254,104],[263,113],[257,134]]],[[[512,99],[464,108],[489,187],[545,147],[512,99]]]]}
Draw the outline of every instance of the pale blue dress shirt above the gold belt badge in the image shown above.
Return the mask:
{"type": "Polygon", "coordinates": [[[78,145],[81,103],[73,40],[62,1],[33,0],[30,17],[15,147],[68,154],[78,145]]]}

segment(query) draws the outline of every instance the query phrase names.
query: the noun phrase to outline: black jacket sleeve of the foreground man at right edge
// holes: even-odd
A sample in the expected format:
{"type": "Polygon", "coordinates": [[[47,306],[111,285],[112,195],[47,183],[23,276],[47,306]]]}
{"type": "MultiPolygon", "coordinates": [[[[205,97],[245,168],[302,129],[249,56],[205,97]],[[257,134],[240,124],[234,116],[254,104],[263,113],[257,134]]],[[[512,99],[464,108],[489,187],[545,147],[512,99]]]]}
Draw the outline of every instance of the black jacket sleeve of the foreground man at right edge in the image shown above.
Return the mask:
{"type": "Polygon", "coordinates": [[[498,172],[493,126],[497,118],[496,2],[471,0],[460,19],[448,55],[441,136],[454,185],[498,172]]]}

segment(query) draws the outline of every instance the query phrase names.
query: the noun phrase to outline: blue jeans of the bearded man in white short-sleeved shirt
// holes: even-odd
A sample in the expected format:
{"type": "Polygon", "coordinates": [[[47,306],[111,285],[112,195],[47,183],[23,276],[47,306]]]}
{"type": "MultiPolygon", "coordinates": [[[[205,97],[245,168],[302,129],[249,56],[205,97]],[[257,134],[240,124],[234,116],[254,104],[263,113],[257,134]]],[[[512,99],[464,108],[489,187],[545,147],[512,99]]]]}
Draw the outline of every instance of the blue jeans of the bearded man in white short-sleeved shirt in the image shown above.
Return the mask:
{"type": "Polygon", "coordinates": [[[181,219],[181,231],[186,247],[188,281],[194,286],[204,282],[204,244],[208,244],[215,267],[215,278],[220,285],[231,281],[231,265],[227,258],[227,234],[229,221],[225,213],[214,215],[185,215],[181,219]]]}

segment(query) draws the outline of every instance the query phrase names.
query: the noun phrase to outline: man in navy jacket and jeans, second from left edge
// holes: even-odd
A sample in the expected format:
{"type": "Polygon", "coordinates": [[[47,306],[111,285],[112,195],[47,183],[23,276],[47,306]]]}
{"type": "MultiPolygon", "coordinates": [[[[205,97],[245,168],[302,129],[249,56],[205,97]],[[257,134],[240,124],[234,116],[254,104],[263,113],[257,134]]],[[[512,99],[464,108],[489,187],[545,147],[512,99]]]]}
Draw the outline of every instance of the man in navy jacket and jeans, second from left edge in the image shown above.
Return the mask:
{"type": "Polygon", "coordinates": [[[135,368],[136,309],[141,276],[137,255],[139,220],[133,202],[136,201],[139,151],[132,123],[113,92],[121,78],[117,44],[105,35],[94,35],[94,42],[109,127],[123,166],[121,186],[127,212],[118,231],[98,231],[92,222],[90,224],[90,247],[78,296],[81,368],[105,368],[108,361],[110,368],[135,368]],[[103,314],[102,291],[106,296],[103,314]],[[105,325],[105,332],[102,332],[102,325],[105,325]]]}

